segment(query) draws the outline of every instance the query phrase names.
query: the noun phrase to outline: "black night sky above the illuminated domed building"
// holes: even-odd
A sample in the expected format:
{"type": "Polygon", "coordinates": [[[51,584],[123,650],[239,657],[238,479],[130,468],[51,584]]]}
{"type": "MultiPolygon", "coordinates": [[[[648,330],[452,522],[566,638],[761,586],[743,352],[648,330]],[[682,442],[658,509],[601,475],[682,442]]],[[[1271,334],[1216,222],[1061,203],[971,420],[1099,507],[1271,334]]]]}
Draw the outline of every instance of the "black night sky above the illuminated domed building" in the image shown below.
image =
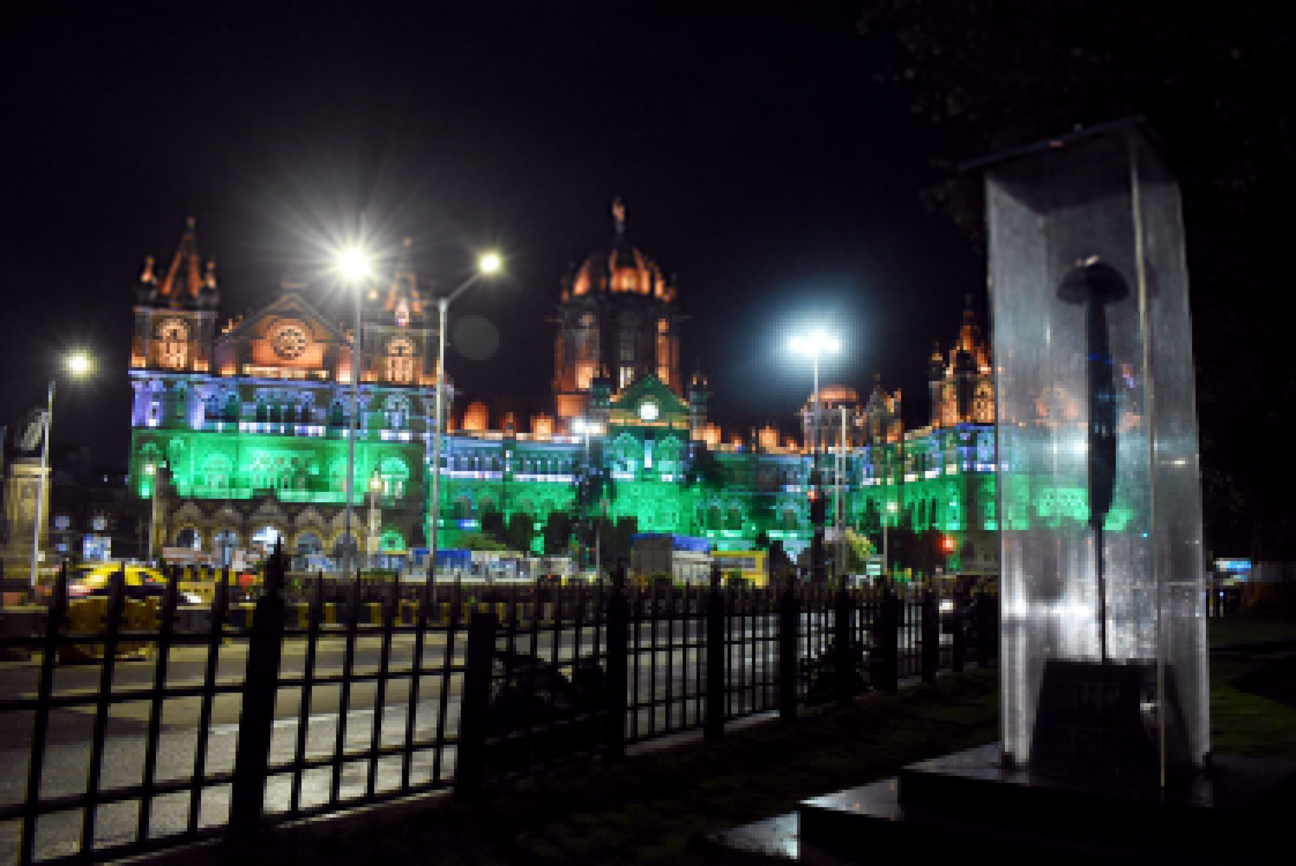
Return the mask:
{"type": "Polygon", "coordinates": [[[270,301],[292,262],[321,264],[362,210],[376,240],[413,239],[424,287],[498,246],[509,277],[456,302],[451,334],[482,316],[500,347],[447,360],[487,402],[550,394],[546,318],[610,240],[616,196],[630,240],[678,275],[682,366],[709,376],[722,423],[791,421],[810,368],[787,342],[814,323],[846,347],[826,384],[881,373],[925,423],[932,341],[966,294],[984,309],[980,253],[919,200],[942,176],[932,130],[874,82],[885,58],[858,3],[26,5],[0,36],[0,420],[87,347],[97,379],[61,385],[54,441],[109,464],[128,442],[131,289],[191,215],[222,318],[270,301]]]}

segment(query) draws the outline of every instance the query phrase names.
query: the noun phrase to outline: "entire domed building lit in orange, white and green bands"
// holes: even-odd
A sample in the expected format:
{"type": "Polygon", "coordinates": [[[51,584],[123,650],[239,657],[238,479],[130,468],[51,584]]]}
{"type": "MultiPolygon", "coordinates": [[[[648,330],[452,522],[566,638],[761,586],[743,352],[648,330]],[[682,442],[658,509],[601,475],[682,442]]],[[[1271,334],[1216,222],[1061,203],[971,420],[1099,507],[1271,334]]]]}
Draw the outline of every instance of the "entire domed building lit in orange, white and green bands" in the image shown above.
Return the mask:
{"type": "MultiPolygon", "coordinates": [[[[439,546],[480,533],[487,515],[505,525],[525,515],[542,552],[551,515],[577,524],[603,515],[721,550],[778,541],[798,554],[813,537],[813,455],[772,429],[732,437],[708,419],[705,377],[686,382],[679,372],[675,285],[626,242],[619,202],[614,215],[610,248],[562,283],[553,414],[491,424],[485,406],[454,406],[447,394],[439,546]]],[[[283,535],[299,567],[340,550],[353,334],[311,297],[286,280],[257,314],[218,323],[214,268],[198,259],[192,222],[165,274],[146,263],[135,298],[131,480],[153,502],[156,550],[200,547],[227,560],[283,535]]],[[[408,257],[363,296],[353,535],[389,564],[426,544],[433,512],[432,311],[408,257]]],[[[1001,521],[1086,520],[1082,487],[1017,486],[998,502],[989,347],[971,312],[953,347],[933,353],[928,381],[931,424],[919,430],[902,429],[899,392],[880,385],[864,402],[822,389],[814,437],[811,403],[801,410],[801,442],[828,446],[818,459],[829,525],[840,499],[844,522],[879,551],[886,524],[893,565],[993,573],[1001,521]],[[933,539],[934,556],[923,547],[933,539]]],[[[1042,423],[1067,411],[1067,395],[1050,395],[1042,423]]],[[[1122,513],[1117,502],[1111,520],[1122,513]]]]}

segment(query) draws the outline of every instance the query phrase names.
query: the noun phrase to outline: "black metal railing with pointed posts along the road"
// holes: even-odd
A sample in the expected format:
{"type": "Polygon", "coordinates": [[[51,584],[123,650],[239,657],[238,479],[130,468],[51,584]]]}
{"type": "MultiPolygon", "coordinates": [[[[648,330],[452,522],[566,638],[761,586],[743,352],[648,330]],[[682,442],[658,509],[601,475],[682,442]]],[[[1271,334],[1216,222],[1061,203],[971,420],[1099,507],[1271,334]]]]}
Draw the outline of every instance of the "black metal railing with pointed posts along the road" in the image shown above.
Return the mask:
{"type": "Polygon", "coordinates": [[[102,861],[989,665],[985,587],[179,581],[51,592],[0,651],[0,858],[102,861]],[[26,660],[25,662],[22,660],[26,660]]]}

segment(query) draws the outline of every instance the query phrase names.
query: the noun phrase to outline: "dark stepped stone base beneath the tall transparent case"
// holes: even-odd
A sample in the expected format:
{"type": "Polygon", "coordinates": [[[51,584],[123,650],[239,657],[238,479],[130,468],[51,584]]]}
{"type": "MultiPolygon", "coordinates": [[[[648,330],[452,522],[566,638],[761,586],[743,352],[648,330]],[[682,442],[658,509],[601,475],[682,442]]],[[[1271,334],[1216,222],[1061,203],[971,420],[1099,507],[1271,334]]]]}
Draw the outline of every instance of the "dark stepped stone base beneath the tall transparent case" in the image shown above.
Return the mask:
{"type": "Polygon", "coordinates": [[[1002,766],[999,755],[999,744],[984,745],[806,800],[801,860],[1109,866],[1291,857],[1296,764],[1221,757],[1163,792],[1039,778],[1002,766]]]}

